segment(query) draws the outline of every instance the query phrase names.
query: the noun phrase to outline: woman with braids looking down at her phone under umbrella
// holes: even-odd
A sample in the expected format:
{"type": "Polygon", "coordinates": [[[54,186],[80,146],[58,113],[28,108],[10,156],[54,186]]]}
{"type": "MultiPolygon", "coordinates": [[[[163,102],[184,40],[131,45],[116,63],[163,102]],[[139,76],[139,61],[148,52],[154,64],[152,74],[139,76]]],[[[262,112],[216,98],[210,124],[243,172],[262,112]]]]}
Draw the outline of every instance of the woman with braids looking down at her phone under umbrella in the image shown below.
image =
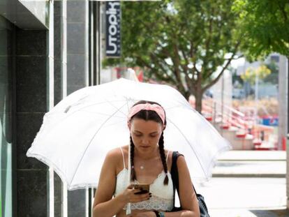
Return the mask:
{"type": "Polygon", "coordinates": [[[126,216],[128,203],[131,203],[129,216],[200,216],[198,200],[183,156],[177,158],[179,199],[183,210],[170,212],[174,207],[170,176],[172,151],[163,146],[165,125],[165,111],[158,103],[141,100],[131,107],[128,114],[130,149],[128,145],[119,147],[109,151],[105,157],[94,197],[94,217],[126,216]],[[149,193],[135,194],[140,190],[134,189],[128,181],[128,156],[131,161],[131,183],[150,184],[149,193]]]}

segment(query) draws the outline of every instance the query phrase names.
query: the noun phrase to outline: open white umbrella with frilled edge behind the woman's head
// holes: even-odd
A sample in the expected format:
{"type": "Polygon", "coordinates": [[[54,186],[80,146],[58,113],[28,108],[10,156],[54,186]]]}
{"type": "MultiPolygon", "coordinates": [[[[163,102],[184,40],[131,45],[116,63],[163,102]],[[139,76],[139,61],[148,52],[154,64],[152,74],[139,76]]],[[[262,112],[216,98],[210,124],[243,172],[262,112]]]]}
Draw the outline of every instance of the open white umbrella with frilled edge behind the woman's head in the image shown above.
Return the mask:
{"type": "Polygon", "coordinates": [[[193,180],[212,177],[216,156],[230,144],[172,87],[119,79],[85,87],[43,117],[27,156],[54,167],[68,190],[96,187],[110,149],[129,144],[127,115],[138,100],[166,112],[165,148],[184,154],[193,180]]]}

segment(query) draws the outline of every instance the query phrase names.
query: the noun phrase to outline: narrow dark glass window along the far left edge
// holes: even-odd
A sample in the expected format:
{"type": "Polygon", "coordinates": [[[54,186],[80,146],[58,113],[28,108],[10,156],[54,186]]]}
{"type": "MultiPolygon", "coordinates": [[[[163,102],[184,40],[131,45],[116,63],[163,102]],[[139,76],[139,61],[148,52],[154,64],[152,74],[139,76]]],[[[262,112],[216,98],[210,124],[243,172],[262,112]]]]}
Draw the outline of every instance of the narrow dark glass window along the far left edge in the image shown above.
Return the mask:
{"type": "Polygon", "coordinates": [[[12,29],[0,16],[0,216],[12,216],[12,29]]]}

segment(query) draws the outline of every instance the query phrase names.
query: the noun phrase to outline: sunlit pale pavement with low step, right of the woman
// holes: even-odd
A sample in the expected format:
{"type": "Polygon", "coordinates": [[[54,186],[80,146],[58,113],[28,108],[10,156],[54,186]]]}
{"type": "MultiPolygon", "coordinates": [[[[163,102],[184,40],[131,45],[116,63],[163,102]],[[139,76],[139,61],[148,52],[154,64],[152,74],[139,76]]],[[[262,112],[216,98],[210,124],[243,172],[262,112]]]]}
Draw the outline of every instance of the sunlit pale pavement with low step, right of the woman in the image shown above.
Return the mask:
{"type": "Polygon", "coordinates": [[[211,217],[289,216],[286,151],[227,151],[212,180],[196,187],[211,217]]]}

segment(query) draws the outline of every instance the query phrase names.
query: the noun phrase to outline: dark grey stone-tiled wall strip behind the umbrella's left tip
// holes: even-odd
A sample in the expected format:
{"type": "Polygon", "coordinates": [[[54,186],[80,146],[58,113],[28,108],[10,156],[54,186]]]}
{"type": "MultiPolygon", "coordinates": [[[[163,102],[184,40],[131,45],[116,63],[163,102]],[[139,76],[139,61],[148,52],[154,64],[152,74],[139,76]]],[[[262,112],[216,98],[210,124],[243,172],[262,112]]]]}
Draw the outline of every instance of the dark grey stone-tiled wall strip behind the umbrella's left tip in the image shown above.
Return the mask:
{"type": "Polygon", "coordinates": [[[16,30],[17,216],[46,216],[47,166],[26,153],[46,112],[46,31],[16,30]]]}

